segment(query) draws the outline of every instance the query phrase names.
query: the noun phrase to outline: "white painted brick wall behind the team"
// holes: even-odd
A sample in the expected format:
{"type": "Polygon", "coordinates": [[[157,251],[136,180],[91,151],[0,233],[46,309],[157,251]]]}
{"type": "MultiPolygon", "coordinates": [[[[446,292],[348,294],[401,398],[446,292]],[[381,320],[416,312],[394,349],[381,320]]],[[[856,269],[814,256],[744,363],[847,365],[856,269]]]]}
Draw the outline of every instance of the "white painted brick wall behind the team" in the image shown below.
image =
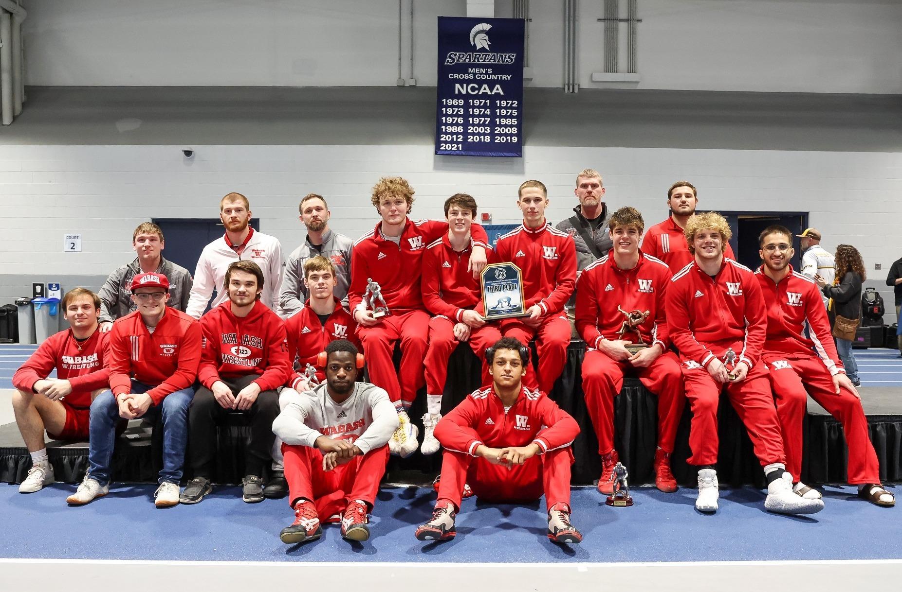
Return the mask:
{"type": "Polygon", "coordinates": [[[648,224],[667,215],[670,183],[686,178],[704,208],[810,212],[824,245],[856,245],[879,283],[902,256],[897,153],[529,147],[523,159],[477,159],[437,157],[430,146],[198,146],[186,160],[179,146],[5,146],[0,275],[109,273],[133,257],[138,223],[214,218],[229,191],[251,199],[285,252],[301,240],[297,205],[308,192],[327,196],[333,228],[356,237],[376,221],[369,195],[381,175],[410,180],[416,217],[441,217],[446,197],[465,191],[493,223],[518,221],[517,187],[538,178],[557,222],[570,215],[575,173],[586,167],[602,171],[610,205],[634,205],[648,224]],[[81,233],[82,252],[62,252],[67,232],[81,233]]]}

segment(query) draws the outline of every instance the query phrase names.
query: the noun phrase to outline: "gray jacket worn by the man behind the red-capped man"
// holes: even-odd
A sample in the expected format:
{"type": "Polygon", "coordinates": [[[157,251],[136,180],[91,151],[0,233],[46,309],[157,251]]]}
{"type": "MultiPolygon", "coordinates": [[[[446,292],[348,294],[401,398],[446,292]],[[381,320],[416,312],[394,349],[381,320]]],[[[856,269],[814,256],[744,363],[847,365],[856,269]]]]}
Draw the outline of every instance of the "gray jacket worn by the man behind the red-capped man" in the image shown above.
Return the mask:
{"type": "MultiPolygon", "coordinates": [[[[160,268],[156,270],[170,281],[170,301],[168,306],[185,312],[188,296],[194,279],[188,269],[160,257],[160,268]]],[[[116,269],[106,278],[97,293],[100,296],[100,323],[113,323],[116,319],[137,310],[132,302],[132,278],[141,273],[141,263],[135,257],[131,263],[116,269]]]]}

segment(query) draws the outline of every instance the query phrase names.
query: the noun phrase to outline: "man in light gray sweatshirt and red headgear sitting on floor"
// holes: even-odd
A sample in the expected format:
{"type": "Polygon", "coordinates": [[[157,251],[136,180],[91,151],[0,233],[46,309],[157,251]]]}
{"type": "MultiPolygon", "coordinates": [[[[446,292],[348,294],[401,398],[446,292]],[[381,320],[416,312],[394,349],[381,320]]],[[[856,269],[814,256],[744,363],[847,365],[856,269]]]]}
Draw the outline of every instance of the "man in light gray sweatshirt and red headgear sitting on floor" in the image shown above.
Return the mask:
{"type": "Polygon", "coordinates": [[[388,442],[398,429],[398,412],[388,393],[356,378],[364,357],[354,344],[327,345],[326,382],[290,393],[272,424],[284,444],[285,479],[295,521],[283,528],[282,542],[313,541],[322,523],[341,524],[349,541],[370,538],[367,514],[373,509],[388,462],[388,442]]]}

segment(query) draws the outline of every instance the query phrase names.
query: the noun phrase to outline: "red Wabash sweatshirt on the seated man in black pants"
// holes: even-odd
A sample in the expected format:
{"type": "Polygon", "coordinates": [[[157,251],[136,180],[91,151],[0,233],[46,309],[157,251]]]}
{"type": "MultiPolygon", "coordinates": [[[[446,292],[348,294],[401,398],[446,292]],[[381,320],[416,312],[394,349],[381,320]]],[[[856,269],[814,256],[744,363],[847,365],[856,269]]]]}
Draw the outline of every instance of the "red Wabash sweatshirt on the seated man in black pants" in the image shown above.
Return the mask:
{"type": "Polygon", "coordinates": [[[226,301],[200,317],[203,331],[198,380],[210,388],[221,378],[259,374],[261,390],[281,387],[291,373],[285,323],[261,301],[245,317],[232,314],[226,301]]]}

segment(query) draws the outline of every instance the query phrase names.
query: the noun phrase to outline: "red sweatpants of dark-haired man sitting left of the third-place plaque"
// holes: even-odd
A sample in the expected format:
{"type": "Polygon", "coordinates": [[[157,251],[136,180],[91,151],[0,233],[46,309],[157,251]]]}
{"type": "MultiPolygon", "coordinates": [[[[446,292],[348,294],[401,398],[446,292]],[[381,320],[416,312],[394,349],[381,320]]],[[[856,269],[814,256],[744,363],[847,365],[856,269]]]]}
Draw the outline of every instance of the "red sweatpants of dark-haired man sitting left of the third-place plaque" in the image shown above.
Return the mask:
{"type": "MultiPolygon", "coordinates": [[[[434,316],[429,321],[429,346],[426,351],[426,392],[439,395],[445,392],[448,374],[448,358],[460,343],[454,336],[455,322],[446,316],[434,316]]],[[[478,329],[470,330],[470,349],[483,362],[483,380],[479,384],[487,385],[492,381],[489,367],[485,363],[485,351],[489,346],[502,338],[502,332],[493,324],[483,324],[478,329]]]]}

